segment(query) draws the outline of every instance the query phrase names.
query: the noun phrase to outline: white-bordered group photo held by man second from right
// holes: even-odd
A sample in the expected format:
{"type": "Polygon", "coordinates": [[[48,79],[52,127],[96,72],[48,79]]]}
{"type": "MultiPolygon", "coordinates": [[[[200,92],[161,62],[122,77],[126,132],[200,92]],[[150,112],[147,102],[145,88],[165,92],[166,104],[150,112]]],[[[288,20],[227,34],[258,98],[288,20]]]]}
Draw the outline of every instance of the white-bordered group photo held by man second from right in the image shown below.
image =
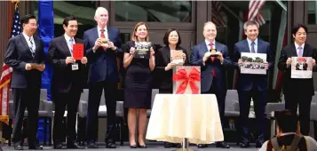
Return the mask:
{"type": "Polygon", "coordinates": [[[266,53],[249,53],[242,52],[242,74],[266,75],[264,62],[266,61],[266,53]]]}

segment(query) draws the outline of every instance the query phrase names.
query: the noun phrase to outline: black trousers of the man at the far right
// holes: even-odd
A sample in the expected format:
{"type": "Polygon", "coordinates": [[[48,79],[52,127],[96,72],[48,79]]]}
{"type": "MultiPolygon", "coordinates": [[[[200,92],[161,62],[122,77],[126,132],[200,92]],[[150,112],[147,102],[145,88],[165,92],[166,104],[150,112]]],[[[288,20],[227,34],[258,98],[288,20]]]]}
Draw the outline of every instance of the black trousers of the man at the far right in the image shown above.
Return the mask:
{"type": "Polygon", "coordinates": [[[310,130],[311,119],[311,95],[300,95],[298,93],[284,93],[285,108],[289,109],[292,114],[297,115],[297,107],[299,107],[300,132],[308,135],[310,130]]]}

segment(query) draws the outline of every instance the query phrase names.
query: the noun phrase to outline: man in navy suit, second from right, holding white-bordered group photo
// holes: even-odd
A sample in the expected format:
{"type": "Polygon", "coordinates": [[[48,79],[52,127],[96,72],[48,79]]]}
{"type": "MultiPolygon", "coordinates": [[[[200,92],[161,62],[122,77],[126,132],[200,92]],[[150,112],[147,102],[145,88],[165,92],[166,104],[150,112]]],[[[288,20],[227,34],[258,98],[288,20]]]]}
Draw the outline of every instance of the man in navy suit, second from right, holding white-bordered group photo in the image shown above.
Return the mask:
{"type": "Polygon", "coordinates": [[[242,126],[241,147],[250,147],[249,113],[251,99],[253,99],[254,102],[254,110],[258,123],[258,139],[256,147],[262,147],[262,144],[264,143],[265,131],[267,74],[241,74],[241,54],[242,52],[264,53],[266,55],[264,68],[271,69],[273,67],[273,53],[270,50],[270,44],[258,38],[259,25],[257,22],[253,20],[247,21],[244,23],[243,28],[247,39],[234,44],[234,67],[239,70],[237,90],[239,95],[240,118],[242,126]]]}

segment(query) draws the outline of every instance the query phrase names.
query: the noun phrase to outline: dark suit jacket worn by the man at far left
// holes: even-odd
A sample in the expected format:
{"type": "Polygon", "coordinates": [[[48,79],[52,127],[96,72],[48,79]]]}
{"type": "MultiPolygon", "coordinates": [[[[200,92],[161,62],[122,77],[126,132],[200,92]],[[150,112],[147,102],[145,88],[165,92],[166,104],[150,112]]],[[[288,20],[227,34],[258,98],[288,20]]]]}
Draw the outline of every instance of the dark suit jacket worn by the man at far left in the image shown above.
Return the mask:
{"type": "Polygon", "coordinates": [[[27,40],[20,34],[10,38],[4,54],[4,63],[12,67],[12,88],[41,88],[42,72],[37,69],[26,70],[27,63],[45,64],[44,44],[38,36],[33,36],[36,44],[35,57],[29,49],[27,40]]]}

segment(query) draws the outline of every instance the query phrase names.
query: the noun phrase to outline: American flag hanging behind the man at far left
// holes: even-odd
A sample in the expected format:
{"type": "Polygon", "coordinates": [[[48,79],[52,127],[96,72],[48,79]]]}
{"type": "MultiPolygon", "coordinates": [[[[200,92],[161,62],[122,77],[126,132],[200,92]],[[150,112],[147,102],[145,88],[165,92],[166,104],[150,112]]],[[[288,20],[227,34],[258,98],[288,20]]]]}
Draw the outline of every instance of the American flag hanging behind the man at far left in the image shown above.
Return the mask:
{"type": "MultiPolygon", "coordinates": [[[[18,36],[21,33],[20,14],[18,9],[18,2],[14,3],[15,12],[12,20],[11,38],[18,36]]],[[[0,79],[0,121],[9,123],[9,91],[10,81],[12,75],[12,68],[8,65],[3,66],[2,75],[0,79]]]]}

